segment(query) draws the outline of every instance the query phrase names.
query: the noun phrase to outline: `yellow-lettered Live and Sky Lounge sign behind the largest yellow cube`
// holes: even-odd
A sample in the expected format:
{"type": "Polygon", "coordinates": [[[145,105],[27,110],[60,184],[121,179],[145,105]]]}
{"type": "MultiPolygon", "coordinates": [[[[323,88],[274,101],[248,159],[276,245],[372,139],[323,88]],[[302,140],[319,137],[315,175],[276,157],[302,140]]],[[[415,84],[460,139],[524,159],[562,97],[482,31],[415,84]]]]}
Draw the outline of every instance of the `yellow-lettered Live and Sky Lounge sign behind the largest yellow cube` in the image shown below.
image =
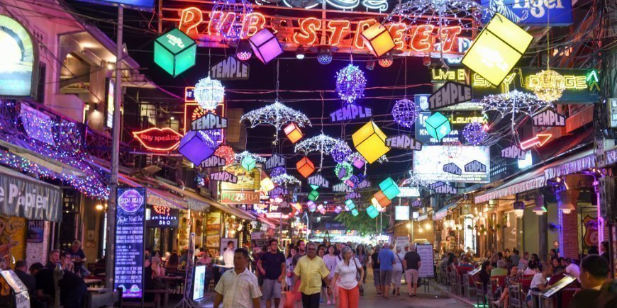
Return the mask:
{"type": "MultiPolygon", "coordinates": [[[[433,89],[439,89],[445,81],[455,81],[472,86],[472,98],[476,101],[491,94],[508,93],[513,90],[533,93],[533,86],[537,85],[541,68],[521,67],[514,68],[506,76],[499,86],[493,86],[487,79],[479,74],[461,67],[450,70],[435,68],[431,69],[430,77],[433,81],[433,89]]],[[[595,103],[599,99],[598,72],[595,69],[552,69],[561,76],[552,79],[555,84],[563,84],[560,101],[567,103],[595,103]]]]}

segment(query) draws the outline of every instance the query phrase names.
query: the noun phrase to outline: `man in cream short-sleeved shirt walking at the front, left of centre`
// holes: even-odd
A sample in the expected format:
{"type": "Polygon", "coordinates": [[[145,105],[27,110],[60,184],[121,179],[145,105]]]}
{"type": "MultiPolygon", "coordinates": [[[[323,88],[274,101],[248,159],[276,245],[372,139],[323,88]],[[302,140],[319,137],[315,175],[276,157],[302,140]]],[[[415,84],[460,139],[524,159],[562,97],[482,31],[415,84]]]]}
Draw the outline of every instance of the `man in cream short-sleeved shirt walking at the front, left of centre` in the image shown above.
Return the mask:
{"type": "Polygon", "coordinates": [[[246,267],[248,251],[237,249],[233,254],[233,270],[227,270],[216,284],[214,308],[259,308],[260,291],[257,276],[246,267]]]}

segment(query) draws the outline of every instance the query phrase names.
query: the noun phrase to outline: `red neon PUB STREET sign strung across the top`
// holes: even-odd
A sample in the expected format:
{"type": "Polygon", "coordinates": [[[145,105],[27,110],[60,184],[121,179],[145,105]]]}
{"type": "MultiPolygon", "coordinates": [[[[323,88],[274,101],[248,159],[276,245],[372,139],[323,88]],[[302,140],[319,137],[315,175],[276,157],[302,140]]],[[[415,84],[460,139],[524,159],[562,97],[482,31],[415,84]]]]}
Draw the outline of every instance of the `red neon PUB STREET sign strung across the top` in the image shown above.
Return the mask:
{"type": "MultiPolygon", "coordinates": [[[[367,4],[374,2],[373,0],[365,1],[367,4]]],[[[381,0],[377,2],[379,1],[381,0]]],[[[360,1],[345,1],[345,3],[355,5],[358,2],[360,1]]],[[[368,53],[369,49],[361,33],[383,18],[382,14],[377,13],[362,12],[360,15],[343,11],[328,11],[328,18],[322,18],[321,9],[304,9],[302,17],[291,17],[284,16],[284,14],[298,15],[297,11],[281,6],[276,8],[262,6],[259,7],[260,11],[252,11],[241,18],[236,18],[233,12],[210,11],[211,5],[209,4],[199,7],[185,6],[184,8],[169,6],[171,5],[163,8],[163,20],[177,23],[180,30],[196,40],[198,45],[204,47],[228,47],[220,43],[224,35],[229,35],[225,31],[240,28],[240,38],[249,38],[263,28],[270,28],[277,33],[277,38],[284,50],[296,51],[300,45],[310,48],[325,42],[337,47],[338,52],[368,53]]],[[[423,57],[427,53],[439,55],[441,50],[445,57],[462,55],[459,50],[465,48],[462,49],[459,45],[465,45],[465,41],[459,38],[471,36],[471,31],[468,31],[470,29],[450,24],[438,33],[437,25],[430,24],[430,20],[422,16],[418,18],[415,24],[403,22],[386,24],[396,44],[395,49],[401,52],[401,55],[423,57]],[[438,40],[438,34],[444,38],[442,44],[435,43],[438,40]]],[[[397,19],[396,16],[394,19],[397,19]]]]}

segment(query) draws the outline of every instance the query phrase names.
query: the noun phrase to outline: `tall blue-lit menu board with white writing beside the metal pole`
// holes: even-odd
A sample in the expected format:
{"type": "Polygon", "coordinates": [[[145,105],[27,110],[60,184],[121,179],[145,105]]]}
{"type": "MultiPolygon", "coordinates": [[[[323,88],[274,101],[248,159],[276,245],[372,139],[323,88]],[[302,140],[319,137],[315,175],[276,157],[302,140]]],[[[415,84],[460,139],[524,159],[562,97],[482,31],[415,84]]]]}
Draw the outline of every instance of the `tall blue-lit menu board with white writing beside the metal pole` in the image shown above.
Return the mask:
{"type": "Polygon", "coordinates": [[[116,258],[114,285],[122,297],[143,296],[145,188],[118,188],[116,194],[116,258]]]}

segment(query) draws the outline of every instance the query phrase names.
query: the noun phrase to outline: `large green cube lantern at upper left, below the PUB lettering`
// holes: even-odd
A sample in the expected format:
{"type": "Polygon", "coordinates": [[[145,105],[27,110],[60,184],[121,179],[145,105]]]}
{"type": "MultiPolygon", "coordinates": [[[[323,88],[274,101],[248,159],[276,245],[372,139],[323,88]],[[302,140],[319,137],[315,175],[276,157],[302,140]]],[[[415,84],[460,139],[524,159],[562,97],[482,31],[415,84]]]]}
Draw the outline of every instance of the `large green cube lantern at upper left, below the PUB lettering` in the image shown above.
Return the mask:
{"type": "Polygon", "coordinates": [[[174,77],[195,65],[196,52],[195,41],[178,29],[155,40],[155,63],[174,77]]]}

